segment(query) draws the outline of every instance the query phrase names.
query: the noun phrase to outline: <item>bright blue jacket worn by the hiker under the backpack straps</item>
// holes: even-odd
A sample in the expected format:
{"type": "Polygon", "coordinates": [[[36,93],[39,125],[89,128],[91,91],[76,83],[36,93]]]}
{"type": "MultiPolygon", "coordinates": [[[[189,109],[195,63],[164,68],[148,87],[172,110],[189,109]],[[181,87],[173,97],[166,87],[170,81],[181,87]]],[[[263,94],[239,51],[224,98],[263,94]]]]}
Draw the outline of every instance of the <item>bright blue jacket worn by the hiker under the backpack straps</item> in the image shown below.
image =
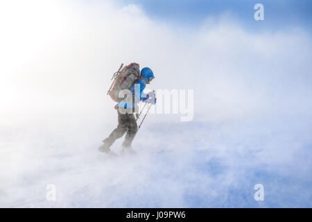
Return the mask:
{"type": "MultiPolygon", "coordinates": [[[[135,96],[137,96],[137,101],[145,101],[146,99],[148,99],[147,94],[145,94],[143,92],[143,90],[146,87],[146,82],[143,79],[139,79],[135,81],[135,84],[131,87],[130,91],[132,92],[132,96],[133,98],[135,98],[135,96]],[[135,92],[135,90],[137,90],[137,92],[135,92]]],[[[128,103],[127,101],[121,101],[119,103],[117,103],[115,105],[115,109],[118,109],[119,107],[123,107],[123,108],[135,108],[135,103],[133,103],[133,99],[132,99],[132,103],[128,103]]]]}

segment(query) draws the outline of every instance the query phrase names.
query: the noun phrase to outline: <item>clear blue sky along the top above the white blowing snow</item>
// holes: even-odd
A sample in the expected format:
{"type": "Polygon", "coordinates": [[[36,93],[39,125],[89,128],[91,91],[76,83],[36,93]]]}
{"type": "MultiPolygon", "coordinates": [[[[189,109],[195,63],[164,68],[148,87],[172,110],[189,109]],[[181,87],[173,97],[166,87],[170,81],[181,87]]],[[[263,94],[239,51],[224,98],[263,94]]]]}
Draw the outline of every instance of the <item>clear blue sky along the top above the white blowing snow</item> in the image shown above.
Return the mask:
{"type": "Polygon", "coordinates": [[[311,28],[312,1],[309,0],[119,0],[121,4],[141,5],[148,17],[182,26],[197,26],[209,16],[231,12],[235,19],[249,28],[284,28],[298,25],[311,28]],[[254,5],[262,3],[266,21],[254,21],[254,5]]]}

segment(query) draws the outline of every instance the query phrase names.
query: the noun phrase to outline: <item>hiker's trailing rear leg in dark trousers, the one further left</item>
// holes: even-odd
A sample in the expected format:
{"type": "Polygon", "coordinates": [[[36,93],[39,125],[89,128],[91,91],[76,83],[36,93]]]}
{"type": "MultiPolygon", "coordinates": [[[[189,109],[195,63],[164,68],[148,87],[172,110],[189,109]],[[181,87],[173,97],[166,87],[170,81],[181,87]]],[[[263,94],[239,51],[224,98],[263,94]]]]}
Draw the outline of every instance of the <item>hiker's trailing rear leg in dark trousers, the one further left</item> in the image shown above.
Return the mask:
{"type": "MultiPolygon", "coordinates": [[[[118,112],[118,111],[117,111],[118,112]]],[[[121,114],[118,112],[118,126],[115,128],[112,133],[110,133],[110,136],[103,140],[105,143],[105,147],[110,148],[112,144],[116,141],[116,139],[119,139],[122,137],[125,132],[128,130],[128,119],[125,117],[125,114],[121,114]]]]}

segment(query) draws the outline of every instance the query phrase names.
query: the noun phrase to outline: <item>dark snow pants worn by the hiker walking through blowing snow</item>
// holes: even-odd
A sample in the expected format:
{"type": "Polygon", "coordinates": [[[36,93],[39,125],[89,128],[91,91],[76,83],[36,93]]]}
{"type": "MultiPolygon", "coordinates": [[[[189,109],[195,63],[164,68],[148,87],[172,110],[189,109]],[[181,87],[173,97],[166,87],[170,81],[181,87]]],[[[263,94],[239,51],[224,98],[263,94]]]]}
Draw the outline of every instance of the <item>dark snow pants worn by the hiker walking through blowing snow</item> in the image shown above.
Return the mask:
{"type": "Polygon", "coordinates": [[[135,138],[135,135],[137,134],[137,121],[135,119],[135,114],[121,114],[118,110],[118,126],[116,129],[112,131],[109,137],[104,139],[103,142],[110,147],[116,139],[119,139],[125,133],[125,141],[123,142],[123,146],[130,147],[132,140],[135,138]]]}

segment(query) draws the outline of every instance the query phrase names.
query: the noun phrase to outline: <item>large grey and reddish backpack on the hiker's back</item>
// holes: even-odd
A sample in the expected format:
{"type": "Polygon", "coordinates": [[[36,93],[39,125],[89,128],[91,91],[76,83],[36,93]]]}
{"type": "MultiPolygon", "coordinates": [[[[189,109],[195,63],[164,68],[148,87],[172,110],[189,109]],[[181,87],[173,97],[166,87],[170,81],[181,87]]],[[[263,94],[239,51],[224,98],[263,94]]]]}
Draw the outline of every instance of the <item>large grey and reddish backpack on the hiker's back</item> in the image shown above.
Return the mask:
{"type": "Polygon", "coordinates": [[[135,80],[137,80],[140,76],[140,67],[139,64],[132,62],[129,65],[123,67],[120,71],[116,72],[116,76],[114,76],[114,82],[110,87],[110,90],[107,94],[110,95],[113,101],[120,102],[123,98],[119,99],[119,92],[122,89],[130,89],[135,80]]]}

